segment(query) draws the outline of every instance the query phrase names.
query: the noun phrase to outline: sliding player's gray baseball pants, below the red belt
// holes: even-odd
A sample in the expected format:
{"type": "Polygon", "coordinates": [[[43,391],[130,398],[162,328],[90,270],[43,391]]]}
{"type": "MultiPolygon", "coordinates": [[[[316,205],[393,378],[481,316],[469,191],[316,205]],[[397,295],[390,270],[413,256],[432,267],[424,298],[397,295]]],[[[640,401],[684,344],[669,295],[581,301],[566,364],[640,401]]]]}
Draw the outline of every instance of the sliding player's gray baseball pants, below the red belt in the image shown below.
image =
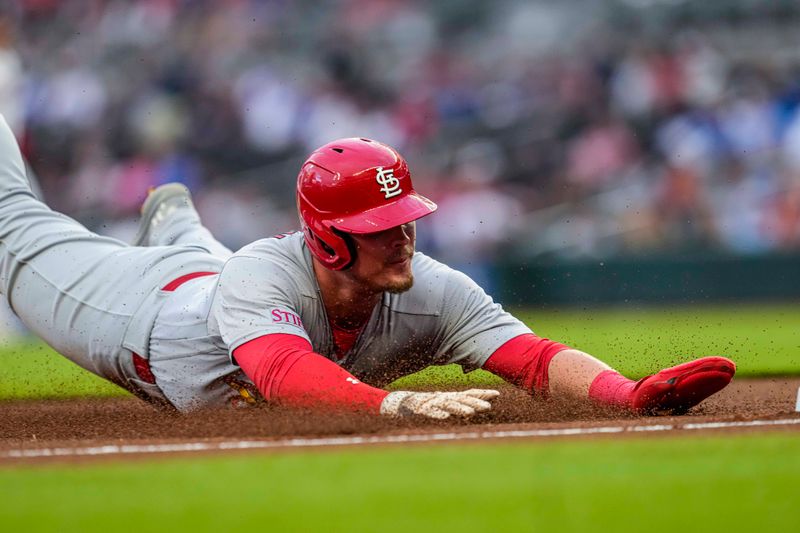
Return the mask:
{"type": "Polygon", "coordinates": [[[223,253],[224,247],[198,227],[186,224],[171,246],[132,247],[52,211],[31,192],[16,140],[0,117],[0,292],[56,351],[148,400],[163,395],[141,379],[132,356],[149,357],[150,331],[169,295],[161,287],[222,268],[211,248],[223,253]]]}

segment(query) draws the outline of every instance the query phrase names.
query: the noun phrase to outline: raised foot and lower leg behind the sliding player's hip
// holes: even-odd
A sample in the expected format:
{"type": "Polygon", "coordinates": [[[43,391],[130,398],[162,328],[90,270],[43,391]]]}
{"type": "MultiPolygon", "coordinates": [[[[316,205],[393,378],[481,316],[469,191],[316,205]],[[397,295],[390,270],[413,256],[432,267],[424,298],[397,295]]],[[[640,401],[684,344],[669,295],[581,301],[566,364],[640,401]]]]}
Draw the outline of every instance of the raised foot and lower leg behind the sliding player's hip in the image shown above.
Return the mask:
{"type": "Polygon", "coordinates": [[[180,183],[167,183],[147,196],[134,246],[195,246],[221,259],[233,253],[203,226],[191,193],[180,183]]]}

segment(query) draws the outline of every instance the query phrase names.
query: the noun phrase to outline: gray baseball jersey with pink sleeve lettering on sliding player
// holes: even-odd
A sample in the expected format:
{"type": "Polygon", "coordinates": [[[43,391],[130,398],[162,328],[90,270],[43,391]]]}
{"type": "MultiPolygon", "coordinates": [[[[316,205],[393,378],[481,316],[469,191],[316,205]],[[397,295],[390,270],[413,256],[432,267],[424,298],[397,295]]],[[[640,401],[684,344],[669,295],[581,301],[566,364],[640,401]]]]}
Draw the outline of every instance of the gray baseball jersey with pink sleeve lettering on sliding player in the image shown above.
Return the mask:
{"type": "Polygon", "coordinates": [[[230,354],[270,333],[300,336],[379,387],[430,365],[479,368],[506,341],[530,333],[464,274],[419,252],[412,267],[414,286],[385,293],[337,359],[303,235],[256,241],[233,254],[218,277],[193,280],[165,303],[151,336],[151,368],[167,397],[189,409],[235,398],[231,390],[246,378],[230,354]]]}

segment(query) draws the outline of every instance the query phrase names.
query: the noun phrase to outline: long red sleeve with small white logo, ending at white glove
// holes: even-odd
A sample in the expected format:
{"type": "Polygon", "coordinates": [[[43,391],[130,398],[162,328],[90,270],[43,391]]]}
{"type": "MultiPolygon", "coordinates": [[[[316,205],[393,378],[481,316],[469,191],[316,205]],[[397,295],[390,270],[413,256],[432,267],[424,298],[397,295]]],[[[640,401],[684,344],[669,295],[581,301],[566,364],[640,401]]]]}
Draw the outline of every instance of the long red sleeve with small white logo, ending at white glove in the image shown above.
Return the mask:
{"type": "Polygon", "coordinates": [[[233,356],[266,400],[283,405],[378,413],[388,394],[361,383],[297,335],[264,335],[233,356]]]}

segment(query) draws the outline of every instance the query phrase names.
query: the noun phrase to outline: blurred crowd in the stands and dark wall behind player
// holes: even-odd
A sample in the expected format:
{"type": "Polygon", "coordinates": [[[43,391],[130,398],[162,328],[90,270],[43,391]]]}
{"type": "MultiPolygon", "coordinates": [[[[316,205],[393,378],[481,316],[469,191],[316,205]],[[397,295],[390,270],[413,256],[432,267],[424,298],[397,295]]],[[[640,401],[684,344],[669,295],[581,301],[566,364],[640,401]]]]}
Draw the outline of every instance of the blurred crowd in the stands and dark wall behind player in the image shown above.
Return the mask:
{"type": "Polygon", "coordinates": [[[439,203],[419,246],[514,303],[800,295],[800,4],[21,0],[0,111],[121,238],[180,181],[237,248],[343,136],[439,203]]]}

